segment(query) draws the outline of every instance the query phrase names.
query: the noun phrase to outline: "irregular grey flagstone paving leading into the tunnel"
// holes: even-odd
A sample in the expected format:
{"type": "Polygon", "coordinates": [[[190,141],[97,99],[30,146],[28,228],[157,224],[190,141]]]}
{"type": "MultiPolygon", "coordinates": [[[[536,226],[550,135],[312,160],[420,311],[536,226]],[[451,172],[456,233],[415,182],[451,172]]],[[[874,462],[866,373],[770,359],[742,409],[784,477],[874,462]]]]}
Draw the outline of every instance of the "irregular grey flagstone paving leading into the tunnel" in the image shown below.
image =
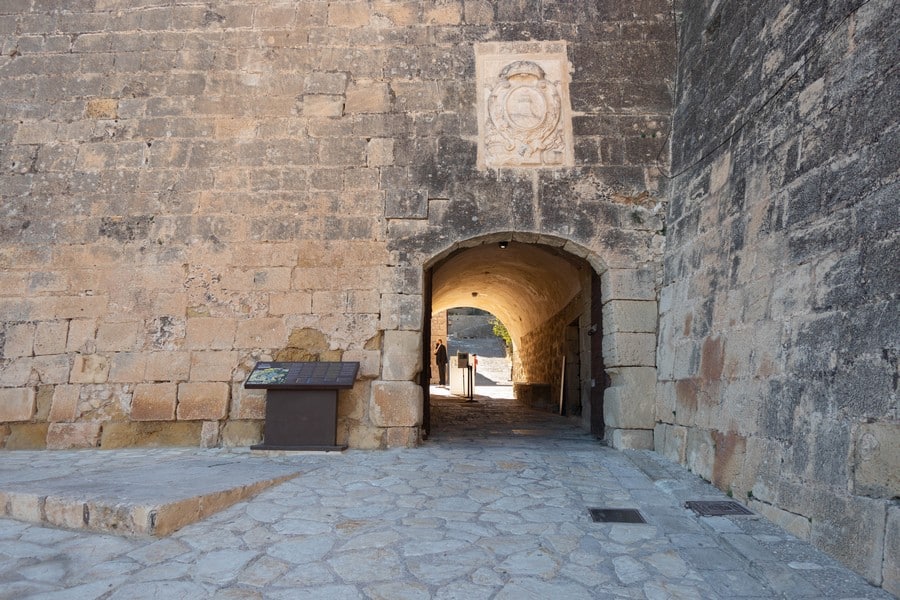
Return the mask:
{"type": "Polygon", "coordinates": [[[762,518],[697,517],[685,500],[722,494],[653,453],[478,400],[435,398],[415,450],[148,452],[303,474],[162,539],[0,520],[0,598],[891,598],[762,518]],[[592,507],[648,523],[594,523],[592,507]]]}

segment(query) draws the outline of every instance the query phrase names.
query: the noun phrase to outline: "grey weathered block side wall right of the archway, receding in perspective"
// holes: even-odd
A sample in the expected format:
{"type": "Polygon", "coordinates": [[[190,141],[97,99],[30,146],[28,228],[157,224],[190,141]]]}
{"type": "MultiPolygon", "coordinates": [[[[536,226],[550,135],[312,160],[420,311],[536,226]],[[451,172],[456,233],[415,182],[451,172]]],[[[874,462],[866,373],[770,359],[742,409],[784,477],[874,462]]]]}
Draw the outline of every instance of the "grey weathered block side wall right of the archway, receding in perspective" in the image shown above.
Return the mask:
{"type": "Polygon", "coordinates": [[[889,0],[685,3],[656,447],[900,592],[889,0]]]}

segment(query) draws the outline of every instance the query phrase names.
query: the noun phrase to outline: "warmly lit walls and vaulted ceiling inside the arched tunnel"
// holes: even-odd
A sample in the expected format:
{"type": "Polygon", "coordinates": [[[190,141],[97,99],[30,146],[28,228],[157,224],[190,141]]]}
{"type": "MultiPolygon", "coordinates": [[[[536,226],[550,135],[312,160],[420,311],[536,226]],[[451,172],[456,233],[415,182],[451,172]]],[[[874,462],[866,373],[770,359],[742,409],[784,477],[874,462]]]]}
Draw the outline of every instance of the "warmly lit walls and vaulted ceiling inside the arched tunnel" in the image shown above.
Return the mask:
{"type": "MultiPolygon", "coordinates": [[[[435,342],[446,336],[445,328],[436,325],[432,330],[429,316],[474,307],[502,322],[512,342],[515,401],[506,402],[503,410],[562,414],[603,437],[603,392],[608,377],[601,349],[600,276],[587,260],[560,246],[498,241],[493,236],[490,241],[447,252],[430,265],[425,279],[424,362],[432,366],[422,382],[426,436],[442,427],[440,418],[435,418],[439,415],[431,410],[432,401],[440,399],[437,395],[432,399],[430,384],[436,381],[432,377],[437,369],[435,342]]],[[[455,361],[448,368],[451,381],[465,377],[455,361]]],[[[492,423],[483,426],[489,428],[492,423]]]]}

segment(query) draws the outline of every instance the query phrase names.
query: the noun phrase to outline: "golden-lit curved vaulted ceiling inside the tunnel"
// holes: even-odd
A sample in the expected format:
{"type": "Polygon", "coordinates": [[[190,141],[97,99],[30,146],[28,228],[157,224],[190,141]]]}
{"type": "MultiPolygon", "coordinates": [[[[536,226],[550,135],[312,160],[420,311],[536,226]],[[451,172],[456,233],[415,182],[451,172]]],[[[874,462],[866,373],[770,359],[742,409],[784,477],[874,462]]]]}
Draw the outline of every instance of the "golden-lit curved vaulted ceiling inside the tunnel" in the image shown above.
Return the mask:
{"type": "Polygon", "coordinates": [[[581,290],[574,260],[578,259],[535,244],[509,242],[500,248],[492,242],[466,248],[435,267],[432,312],[462,306],[486,310],[518,343],[581,290]]]}

